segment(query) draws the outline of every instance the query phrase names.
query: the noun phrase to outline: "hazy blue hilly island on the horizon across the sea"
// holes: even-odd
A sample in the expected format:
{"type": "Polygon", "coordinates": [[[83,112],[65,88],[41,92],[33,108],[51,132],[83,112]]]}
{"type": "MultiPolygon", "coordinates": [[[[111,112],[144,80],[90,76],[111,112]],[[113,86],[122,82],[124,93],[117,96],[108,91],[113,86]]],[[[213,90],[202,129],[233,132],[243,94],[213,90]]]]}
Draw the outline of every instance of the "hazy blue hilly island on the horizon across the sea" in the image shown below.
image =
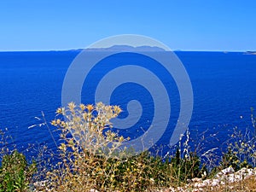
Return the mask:
{"type": "Polygon", "coordinates": [[[165,49],[162,49],[160,47],[156,46],[138,46],[133,47],[129,45],[113,45],[112,47],[108,48],[89,48],[89,49],[72,49],[73,51],[166,51],[165,49]]]}

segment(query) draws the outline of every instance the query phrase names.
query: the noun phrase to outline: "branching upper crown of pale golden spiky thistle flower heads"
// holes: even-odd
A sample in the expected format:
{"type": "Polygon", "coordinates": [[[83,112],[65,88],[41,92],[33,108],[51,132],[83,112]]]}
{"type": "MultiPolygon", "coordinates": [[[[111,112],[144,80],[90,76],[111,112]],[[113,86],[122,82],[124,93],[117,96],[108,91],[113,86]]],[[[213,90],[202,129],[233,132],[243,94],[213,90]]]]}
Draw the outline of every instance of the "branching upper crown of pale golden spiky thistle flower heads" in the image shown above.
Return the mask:
{"type": "MultiPolygon", "coordinates": [[[[61,138],[68,143],[75,140],[80,148],[90,154],[111,156],[118,150],[120,144],[125,140],[117,133],[111,131],[111,119],[116,118],[121,109],[118,106],[107,106],[102,102],[93,105],[81,104],[76,106],[73,102],[66,108],[58,108],[56,113],[62,119],[55,119],[52,125],[61,127],[61,138]],[[67,134],[71,133],[73,138],[67,139],[67,134]]],[[[65,150],[64,143],[60,149],[65,150]]]]}

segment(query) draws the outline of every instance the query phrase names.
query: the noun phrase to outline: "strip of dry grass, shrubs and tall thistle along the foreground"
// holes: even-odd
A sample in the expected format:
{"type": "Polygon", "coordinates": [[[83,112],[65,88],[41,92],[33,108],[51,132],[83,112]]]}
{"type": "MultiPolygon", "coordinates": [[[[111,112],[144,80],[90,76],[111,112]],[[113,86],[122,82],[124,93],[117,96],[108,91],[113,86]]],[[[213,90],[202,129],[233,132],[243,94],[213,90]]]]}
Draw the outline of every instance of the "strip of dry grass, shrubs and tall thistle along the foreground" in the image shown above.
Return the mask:
{"type": "MultiPolygon", "coordinates": [[[[211,155],[214,150],[210,149],[201,156],[196,150],[192,151],[189,131],[180,138],[174,153],[165,157],[148,151],[135,154],[132,148],[121,149],[122,143],[130,138],[119,136],[111,129],[111,119],[120,112],[118,106],[102,102],[96,106],[77,106],[71,102],[67,108],[58,108],[57,116],[51,122],[60,131],[61,137],[57,163],[52,165],[50,160],[44,160],[42,164],[42,160],[38,160],[36,172],[35,163],[27,164],[23,154],[4,150],[1,170],[14,179],[4,183],[5,176],[0,174],[0,186],[13,186],[21,181],[18,187],[9,187],[9,191],[30,191],[32,183],[37,181],[38,191],[168,191],[187,186],[188,181],[195,177],[214,177],[229,166],[236,171],[242,167],[255,167],[255,135],[249,131],[242,134],[237,129],[227,143],[228,150],[214,167],[210,166],[214,165],[211,155]],[[202,156],[207,157],[207,161],[202,156]],[[18,166],[20,160],[23,166],[18,166]],[[6,162],[15,166],[6,169],[6,162]]],[[[255,125],[253,116],[252,122],[255,125]]],[[[44,125],[47,125],[46,121],[44,125]]],[[[229,187],[220,185],[205,188],[205,191],[254,191],[254,182],[255,177],[249,177],[239,183],[227,183],[229,187]]]]}

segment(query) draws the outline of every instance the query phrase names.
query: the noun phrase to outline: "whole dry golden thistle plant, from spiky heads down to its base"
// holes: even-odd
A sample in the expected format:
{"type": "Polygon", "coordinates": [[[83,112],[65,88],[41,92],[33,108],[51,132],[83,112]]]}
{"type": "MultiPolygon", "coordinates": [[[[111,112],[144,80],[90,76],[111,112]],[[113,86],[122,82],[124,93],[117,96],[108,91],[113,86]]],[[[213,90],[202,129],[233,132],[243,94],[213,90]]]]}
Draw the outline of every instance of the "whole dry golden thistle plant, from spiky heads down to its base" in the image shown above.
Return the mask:
{"type": "Polygon", "coordinates": [[[108,106],[102,102],[96,106],[76,106],[71,102],[67,108],[57,109],[57,118],[51,124],[61,129],[63,142],[59,146],[61,161],[47,175],[51,184],[55,185],[52,187],[60,191],[83,191],[113,184],[111,172],[119,163],[111,165],[109,160],[118,158],[114,154],[121,153],[121,143],[129,139],[111,131],[110,120],[120,112],[118,106],[108,106]]]}

